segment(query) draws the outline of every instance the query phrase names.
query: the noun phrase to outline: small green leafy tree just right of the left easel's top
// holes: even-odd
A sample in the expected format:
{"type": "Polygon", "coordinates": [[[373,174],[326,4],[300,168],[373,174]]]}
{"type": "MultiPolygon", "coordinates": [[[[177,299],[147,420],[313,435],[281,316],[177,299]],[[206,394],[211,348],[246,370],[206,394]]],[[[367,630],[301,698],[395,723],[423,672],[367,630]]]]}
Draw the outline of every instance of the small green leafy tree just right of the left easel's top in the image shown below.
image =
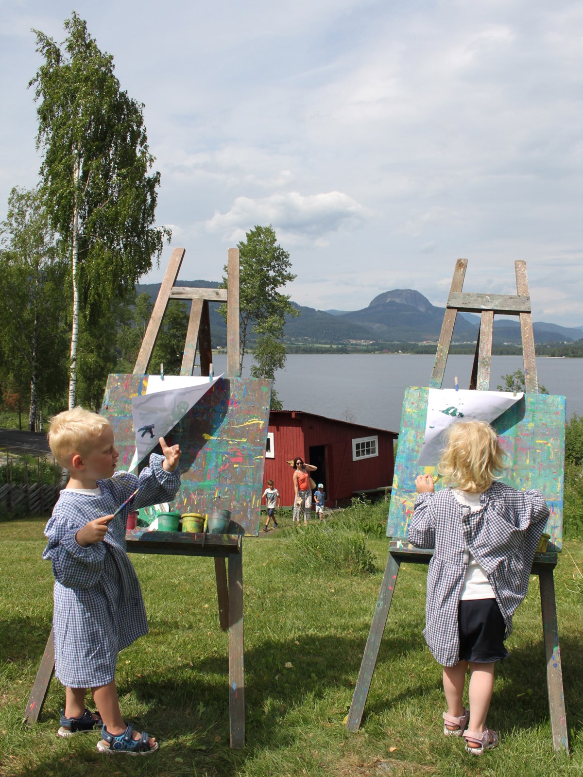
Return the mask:
{"type": "MultiPolygon", "coordinates": [[[[277,242],[274,228],[255,226],[246,233],[246,240],[239,242],[239,371],[243,370],[243,358],[250,338],[257,340],[253,355],[251,375],[254,378],[271,378],[285,364],[285,347],[281,343],[286,316],[299,315],[288,294],[279,291],[295,279],[289,253],[277,242]]],[[[227,287],[225,276],[222,287],[227,287]]],[[[226,320],[226,306],[219,312],[226,320]]],[[[280,405],[273,393],[272,407],[280,405]]]]}

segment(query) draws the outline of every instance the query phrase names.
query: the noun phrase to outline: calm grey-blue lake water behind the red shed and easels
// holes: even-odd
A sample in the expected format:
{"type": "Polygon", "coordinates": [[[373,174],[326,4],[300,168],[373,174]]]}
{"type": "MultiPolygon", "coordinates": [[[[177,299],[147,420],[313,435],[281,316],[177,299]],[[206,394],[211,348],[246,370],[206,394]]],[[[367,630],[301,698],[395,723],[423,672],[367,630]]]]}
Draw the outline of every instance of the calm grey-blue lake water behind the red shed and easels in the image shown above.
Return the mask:
{"type": "MultiPolygon", "coordinates": [[[[430,354],[289,354],[285,370],[275,375],[275,389],[286,410],[304,410],[320,416],[340,418],[365,426],[400,430],[401,406],[406,386],[428,385],[433,369],[430,354]]],[[[243,375],[249,375],[253,357],[246,356],[243,375]]],[[[473,357],[451,355],[443,387],[470,385],[473,357]]],[[[215,374],[226,367],[226,357],[215,355],[215,374]]],[[[522,357],[494,356],[490,386],[502,383],[501,376],[522,369],[522,357]]],[[[583,416],[583,359],[536,360],[539,383],[550,394],[567,397],[567,417],[583,416]]]]}

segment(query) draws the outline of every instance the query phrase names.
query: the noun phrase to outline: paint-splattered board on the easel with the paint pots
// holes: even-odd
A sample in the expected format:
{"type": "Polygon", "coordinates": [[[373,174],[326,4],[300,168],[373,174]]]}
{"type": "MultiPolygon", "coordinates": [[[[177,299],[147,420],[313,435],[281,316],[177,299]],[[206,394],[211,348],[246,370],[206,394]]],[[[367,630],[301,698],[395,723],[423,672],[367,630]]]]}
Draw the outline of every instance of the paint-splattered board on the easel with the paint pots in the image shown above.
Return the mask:
{"type": "MultiPolygon", "coordinates": [[[[110,375],[101,412],[110,419],[127,469],[135,450],[131,398],[145,394],[148,375],[110,375]]],[[[241,534],[259,534],[271,381],[221,378],[166,436],[180,444],[182,483],[171,510],[230,510],[241,534]]],[[[146,462],[145,462],[146,463],[146,462]]]]}

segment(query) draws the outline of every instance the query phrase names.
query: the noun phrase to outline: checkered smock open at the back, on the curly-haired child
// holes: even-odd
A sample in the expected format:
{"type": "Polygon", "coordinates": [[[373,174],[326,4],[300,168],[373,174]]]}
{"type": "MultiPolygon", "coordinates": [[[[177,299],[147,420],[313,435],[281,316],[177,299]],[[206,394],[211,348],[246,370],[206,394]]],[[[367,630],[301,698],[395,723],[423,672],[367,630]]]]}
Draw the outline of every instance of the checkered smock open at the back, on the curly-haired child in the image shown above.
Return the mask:
{"type": "Polygon", "coordinates": [[[538,490],[517,491],[492,483],[470,512],[445,488],[420,493],[407,528],[409,542],[435,548],[429,563],[423,636],[439,664],[459,660],[458,602],[467,569],[467,549],[487,573],[504,616],[506,634],[512,615],[525,598],[532,559],[549,508],[538,490]]]}

